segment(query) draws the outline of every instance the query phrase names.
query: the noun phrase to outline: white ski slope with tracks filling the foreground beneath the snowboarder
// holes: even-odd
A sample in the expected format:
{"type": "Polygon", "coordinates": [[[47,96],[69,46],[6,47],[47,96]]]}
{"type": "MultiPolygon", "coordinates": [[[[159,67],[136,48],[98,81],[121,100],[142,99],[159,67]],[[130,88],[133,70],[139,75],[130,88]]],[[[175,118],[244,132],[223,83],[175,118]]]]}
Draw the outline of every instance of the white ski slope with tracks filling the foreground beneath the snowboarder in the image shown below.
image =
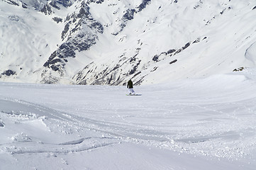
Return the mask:
{"type": "Polygon", "coordinates": [[[135,86],[0,82],[0,169],[255,169],[255,69],[135,86]]]}

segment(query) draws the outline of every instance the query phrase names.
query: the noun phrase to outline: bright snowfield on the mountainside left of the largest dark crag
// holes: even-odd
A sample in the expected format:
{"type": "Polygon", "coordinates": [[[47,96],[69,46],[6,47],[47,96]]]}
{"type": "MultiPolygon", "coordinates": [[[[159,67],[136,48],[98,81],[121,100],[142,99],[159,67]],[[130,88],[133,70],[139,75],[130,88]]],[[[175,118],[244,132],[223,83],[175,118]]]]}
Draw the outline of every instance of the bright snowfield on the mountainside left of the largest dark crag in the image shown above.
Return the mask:
{"type": "Polygon", "coordinates": [[[1,81],[36,82],[41,79],[43,63],[60,42],[57,33],[62,28],[32,7],[0,3],[1,81]],[[15,74],[2,74],[6,70],[15,74]]]}

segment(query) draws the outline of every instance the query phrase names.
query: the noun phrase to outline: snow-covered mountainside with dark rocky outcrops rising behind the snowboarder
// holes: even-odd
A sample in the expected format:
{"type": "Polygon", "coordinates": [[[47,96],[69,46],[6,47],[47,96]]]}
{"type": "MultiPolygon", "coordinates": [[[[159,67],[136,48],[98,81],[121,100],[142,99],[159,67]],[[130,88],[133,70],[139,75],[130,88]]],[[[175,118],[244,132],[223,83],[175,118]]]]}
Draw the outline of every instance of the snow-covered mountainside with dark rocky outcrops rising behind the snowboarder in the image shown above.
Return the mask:
{"type": "Polygon", "coordinates": [[[2,0],[0,80],[152,84],[256,64],[254,0],[2,0]]]}

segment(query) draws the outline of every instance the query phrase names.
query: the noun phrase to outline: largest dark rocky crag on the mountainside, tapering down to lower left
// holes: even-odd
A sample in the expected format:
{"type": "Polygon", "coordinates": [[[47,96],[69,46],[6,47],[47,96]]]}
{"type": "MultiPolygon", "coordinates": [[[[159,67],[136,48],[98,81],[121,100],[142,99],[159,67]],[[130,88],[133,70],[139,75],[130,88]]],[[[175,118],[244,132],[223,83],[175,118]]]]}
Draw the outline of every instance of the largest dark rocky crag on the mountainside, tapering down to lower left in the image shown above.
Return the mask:
{"type": "MultiPolygon", "coordinates": [[[[50,55],[44,67],[65,76],[65,65],[70,57],[76,57],[76,51],[86,51],[96,44],[98,34],[104,33],[104,27],[91,16],[90,8],[82,1],[75,11],[65,18],[65,28],[62,31],[62,45],[50,55]]],[[[47,76],[44,77],[47,79],[47,76]]],[[[47,81],[47,80],[44,80],[47,81]]]]}

